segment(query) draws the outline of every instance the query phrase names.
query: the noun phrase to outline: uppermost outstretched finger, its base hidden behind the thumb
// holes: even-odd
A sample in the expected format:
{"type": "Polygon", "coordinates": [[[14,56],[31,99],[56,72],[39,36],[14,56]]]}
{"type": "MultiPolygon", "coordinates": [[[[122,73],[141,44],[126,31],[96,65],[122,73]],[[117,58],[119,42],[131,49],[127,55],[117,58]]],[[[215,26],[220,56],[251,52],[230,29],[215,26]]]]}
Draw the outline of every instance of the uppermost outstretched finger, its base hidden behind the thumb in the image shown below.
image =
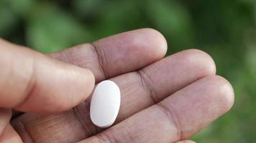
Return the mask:
{"type": "Polygon", "coordinates": [[[151,64],[162,59],[167,43],[154,29],[139,29],[82,44],[58,53],[55,59],[93,71],[96,82],[151,64]]]}

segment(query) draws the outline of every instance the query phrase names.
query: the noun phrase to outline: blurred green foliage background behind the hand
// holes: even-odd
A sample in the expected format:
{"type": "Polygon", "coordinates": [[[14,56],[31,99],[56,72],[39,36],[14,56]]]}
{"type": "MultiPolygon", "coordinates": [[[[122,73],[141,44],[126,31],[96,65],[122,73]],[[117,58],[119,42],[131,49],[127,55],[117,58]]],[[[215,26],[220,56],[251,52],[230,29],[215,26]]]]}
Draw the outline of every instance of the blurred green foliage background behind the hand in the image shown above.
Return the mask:
{"type": "Polygon", "coordinates": [[[256,142],[255,0],[0,1],[0,36],[45,53],[143,27],[166,37],[168,54],[208,52],[234,87],[232,110],[192,139],[256,142]]]}

